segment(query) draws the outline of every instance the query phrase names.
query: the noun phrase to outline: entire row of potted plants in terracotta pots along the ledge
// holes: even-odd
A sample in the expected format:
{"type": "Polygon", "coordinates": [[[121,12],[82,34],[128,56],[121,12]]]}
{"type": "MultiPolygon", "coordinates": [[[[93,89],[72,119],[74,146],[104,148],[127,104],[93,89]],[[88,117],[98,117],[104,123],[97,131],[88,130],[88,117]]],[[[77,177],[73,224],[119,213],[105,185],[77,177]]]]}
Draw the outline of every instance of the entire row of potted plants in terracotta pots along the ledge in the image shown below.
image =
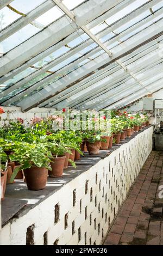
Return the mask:
{"type": "Polygon", "coordinates": [[[17,118],[1,127],[1,180],[5,176],[11,183],[15,178],[24,177],[29,190],[41,190],[46,186],[48,175],[60,177],[68,165],[75,167],[74,160],[79,160],[83,151],[96,155],[100,149],[111,148],[112,143],[119,144],[121,139],[148,125],[146,114],[112,111],[111,118],[103,115],[99,119],[103,121],[100,129],[95,129],[99,120],[93,116],[92,129],[86,125],[85,130],[54,130],[54,121],[65,122],[64,117],[58,115],[46,119],[35,117],[28,126],[17,118]],[[108,130],[103,129],[108,123],[108,130]]]}

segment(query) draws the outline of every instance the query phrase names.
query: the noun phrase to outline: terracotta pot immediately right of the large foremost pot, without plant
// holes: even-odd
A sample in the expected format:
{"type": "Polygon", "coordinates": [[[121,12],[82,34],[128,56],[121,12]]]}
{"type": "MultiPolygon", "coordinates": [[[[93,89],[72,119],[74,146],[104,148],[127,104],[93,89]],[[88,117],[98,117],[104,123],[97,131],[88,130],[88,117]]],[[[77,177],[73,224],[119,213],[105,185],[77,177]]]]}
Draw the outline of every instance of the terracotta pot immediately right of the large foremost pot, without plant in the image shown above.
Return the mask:
{"type": "Polygon", "coordinates": [[[53,157],[52,170],[48,171],[49,177],[61,177],[63,175],[66,156],[53,157]]]}

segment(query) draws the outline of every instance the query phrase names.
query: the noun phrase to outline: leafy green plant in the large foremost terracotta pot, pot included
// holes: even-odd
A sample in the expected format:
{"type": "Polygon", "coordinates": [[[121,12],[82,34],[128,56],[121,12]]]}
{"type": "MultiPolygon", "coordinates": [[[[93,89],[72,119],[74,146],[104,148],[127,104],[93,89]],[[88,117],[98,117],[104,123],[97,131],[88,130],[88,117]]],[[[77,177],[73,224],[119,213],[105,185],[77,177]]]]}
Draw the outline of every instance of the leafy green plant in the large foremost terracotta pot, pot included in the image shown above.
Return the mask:
{"type": "Polygon", "coordinates": [[[11,181],[14,180],[18,171],[23,170],[28,190],[43,190],[46,187],[52,159],[52,153],[47,144],[22,142],[13,151],[14,154],[9,156],[10,160],[19,162],[20,166],[14,169],[11,181]]]}

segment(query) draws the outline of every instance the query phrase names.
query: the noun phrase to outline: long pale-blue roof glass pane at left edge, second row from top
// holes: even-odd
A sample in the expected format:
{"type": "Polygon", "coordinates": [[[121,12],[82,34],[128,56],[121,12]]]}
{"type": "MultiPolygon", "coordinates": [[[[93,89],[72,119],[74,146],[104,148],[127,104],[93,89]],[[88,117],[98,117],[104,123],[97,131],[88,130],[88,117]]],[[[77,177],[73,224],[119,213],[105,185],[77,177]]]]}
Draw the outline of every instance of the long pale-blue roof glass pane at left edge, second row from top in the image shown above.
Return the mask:
{"type": "Polygon", "coordinates": [[[12,48],[16,47],[17,45],[20,45],[22,42],[30,38],[30,36],[36,34],[39,31],[39,28],[36,28],[28,24],[27,26],[23,27],[15,34],[9,36],[9,38],[5,39],[0,43],[2,53],[10,51],[12,48]]]}

